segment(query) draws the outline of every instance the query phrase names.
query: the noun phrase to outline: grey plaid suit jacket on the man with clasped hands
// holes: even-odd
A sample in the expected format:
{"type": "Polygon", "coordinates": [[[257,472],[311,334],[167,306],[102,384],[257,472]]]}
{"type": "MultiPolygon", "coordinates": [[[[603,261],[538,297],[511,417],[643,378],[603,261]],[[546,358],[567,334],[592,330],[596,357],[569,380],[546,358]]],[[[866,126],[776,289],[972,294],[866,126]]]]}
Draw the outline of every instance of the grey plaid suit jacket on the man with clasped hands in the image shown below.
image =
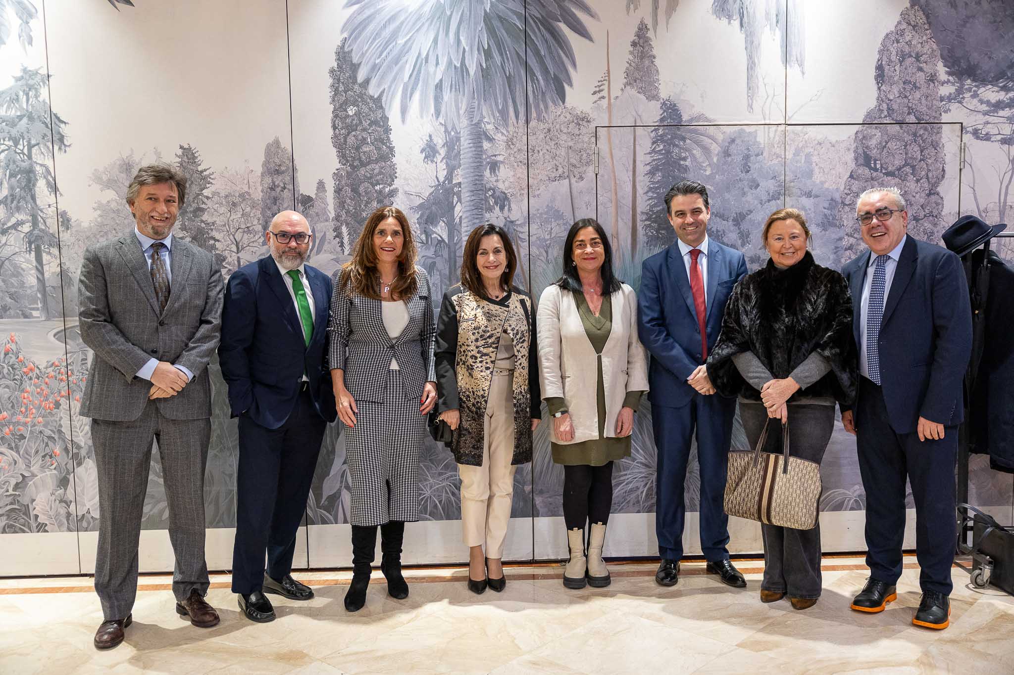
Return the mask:
{"type": "Polygon", "coordinates": [[[141,416],[151,383],[135,376],[149,358],[183,365],[194,379],[157,399],[168,419],[211,417],[208,361],[218,347],[222,274],[214,257],[172,240],[171,288],[159,312],[141,243],[132,232],[89,246],[78,281],[81,339],[94,351],[81,414],[127,422],[141,416]]]}

